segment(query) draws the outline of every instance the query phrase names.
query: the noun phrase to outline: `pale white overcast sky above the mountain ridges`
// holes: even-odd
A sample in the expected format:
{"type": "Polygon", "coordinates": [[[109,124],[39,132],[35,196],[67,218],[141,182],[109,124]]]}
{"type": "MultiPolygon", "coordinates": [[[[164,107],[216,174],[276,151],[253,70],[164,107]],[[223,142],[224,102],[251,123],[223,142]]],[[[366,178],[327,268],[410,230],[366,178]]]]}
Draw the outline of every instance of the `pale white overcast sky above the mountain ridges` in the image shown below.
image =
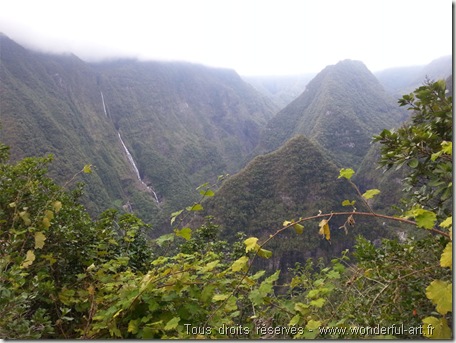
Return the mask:
{"type": "Polygon", "coordinates": [[[452,11],[451,0],[0,0],[0,32],[86,61],[184,60],[280,75],[349,58],[379,71],[452,54],[452,11]]]}

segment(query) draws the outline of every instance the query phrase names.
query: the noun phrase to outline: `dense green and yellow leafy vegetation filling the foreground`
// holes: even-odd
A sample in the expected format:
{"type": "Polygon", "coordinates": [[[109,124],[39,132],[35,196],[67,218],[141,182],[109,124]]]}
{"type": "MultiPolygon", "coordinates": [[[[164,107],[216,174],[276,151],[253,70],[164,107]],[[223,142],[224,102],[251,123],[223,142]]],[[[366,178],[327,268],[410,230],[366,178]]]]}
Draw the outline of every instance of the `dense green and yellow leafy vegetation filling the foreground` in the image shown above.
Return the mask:
{"type": "MultiPolygon", "coordinates": [[[[452,99],[445,96],[445,83],[436,82],[404,96],[401,104],[413,111],[411,121],[377,138],[384,147],[382,164],[400,167],[406,160],[412,168],[404,180],[407,206],[401,216],[372,211],[369,200],[379,190],[361,192],[352,180],[354,171],[343,168],[325,182],[351,186],[353,192],[343,194],[345,210],[322,204],[321,213],[286,218],[265,237],[228,240],[211,217],[190,227],[204,201],[173,213],[174,231],[155,240],[146,238],[146,225],[131,214],[108,210],[93,220],[78,202],[81,187],[69,191],[46,176],[50,158],[9,162],[9,149],[1,144],[0,337],[451,338],[452,213],[447,204],[452,198],[446,192],[452,188],[452,99]],[[351,252],[329,263],[295,264],[285,283],[279,281],[279,269],[253,268],[256,260],[274,256],[269,243],[285,232],[318,235],[315,222],[322,241],[335,243],[336,218],[343,219],[342,229],[352,231],[363,216],[407,223],[424,238],[375,246],[359,237],[351,252]]],[[[299,160],[307,149],[324,156],[302,137],[282,152],[299,160]]],[[[288,160],[279,154],[258,157],[254,164],[271,161],[282,163],[284,178],[301,185],[301,171],[287,169],[288,160]]],[[[324,157],[314,163],[323,164],[320,171],[334,169],[324,157]]],[[[244,176],[255,186],[255,177],[279,175],[259,172],[248,167],[244,176]]],[[[79,175],[92,176],[91,167],[81,166],[75,178],[79,175]]],[[[208,185],[199,191],[203,198],[214,197],[208,185]]]]}

